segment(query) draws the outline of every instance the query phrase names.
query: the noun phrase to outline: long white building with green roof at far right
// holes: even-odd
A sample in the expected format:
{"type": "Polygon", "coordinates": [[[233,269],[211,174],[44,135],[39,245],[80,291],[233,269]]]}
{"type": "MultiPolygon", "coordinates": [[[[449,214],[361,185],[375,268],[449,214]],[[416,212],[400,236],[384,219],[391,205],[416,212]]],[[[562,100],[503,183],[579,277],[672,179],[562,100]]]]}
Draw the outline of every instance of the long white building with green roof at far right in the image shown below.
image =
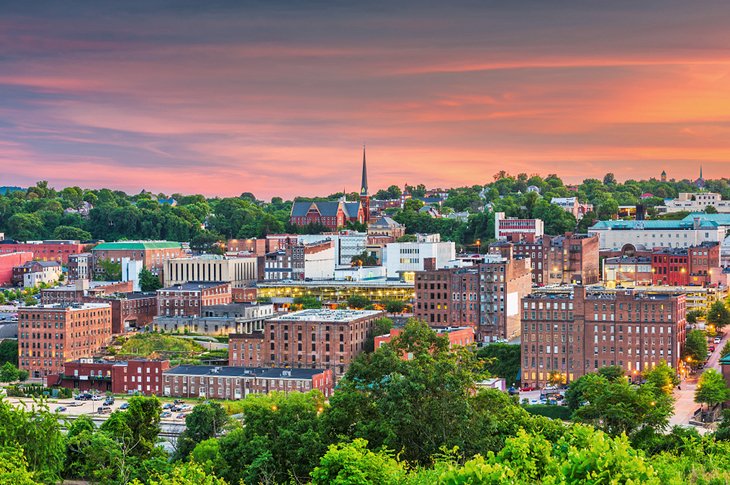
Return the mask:
{"type": "Polygon", "coordinates": [[[725,227],[715,221],[695,217],[682,221],[600,221],[588,229],[598,234],[602,250],[687,248],[711,241],[722,243],[725,227]]]}

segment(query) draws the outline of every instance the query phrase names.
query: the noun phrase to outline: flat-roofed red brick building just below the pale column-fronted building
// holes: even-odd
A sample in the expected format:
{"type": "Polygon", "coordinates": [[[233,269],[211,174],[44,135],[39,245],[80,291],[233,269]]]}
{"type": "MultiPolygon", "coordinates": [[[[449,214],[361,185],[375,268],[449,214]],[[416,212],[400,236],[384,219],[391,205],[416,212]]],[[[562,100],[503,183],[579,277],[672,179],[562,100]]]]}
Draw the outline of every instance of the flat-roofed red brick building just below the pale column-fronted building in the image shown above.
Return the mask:
{"type": "Polygon", "coordinates": [[[231,284],[220,281],[191,281],[157,290],[160,316],[200,316],[202,308],[231,303],[231,284]]]}

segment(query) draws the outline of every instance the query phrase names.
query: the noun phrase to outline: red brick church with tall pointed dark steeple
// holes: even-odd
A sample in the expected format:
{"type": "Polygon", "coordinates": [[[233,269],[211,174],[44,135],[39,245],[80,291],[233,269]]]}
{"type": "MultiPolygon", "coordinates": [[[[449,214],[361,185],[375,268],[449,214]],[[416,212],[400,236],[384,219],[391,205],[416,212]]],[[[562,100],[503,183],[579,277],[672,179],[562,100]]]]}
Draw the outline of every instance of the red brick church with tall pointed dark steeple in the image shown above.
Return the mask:
{"type": "Polygon", "coordinates": [[[348,222],[367,224],[370,219],[370,196],[368,195],[368,170],[365,162],[365,147],[362,149],[362,183],[360,200],[348,202],[343,196],[336,201],[294,202],[289,221],[297,226],[319,223],[336,231],[348,222]]]}

